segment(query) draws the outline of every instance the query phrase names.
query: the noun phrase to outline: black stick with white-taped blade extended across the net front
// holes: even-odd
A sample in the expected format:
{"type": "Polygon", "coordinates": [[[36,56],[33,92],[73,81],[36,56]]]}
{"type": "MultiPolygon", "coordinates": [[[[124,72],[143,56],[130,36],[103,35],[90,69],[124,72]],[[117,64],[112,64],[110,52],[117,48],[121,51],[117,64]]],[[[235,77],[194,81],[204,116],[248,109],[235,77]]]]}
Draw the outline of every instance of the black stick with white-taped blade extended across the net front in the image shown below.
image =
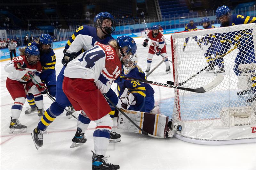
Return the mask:
{"type": "Polygon", "coordinates": [[[158,83],[158,82],[154,82],[154,81],[142,80],[142,79],[137,79],[137,78],[124,77],[124,79],[126,79],[126,80],[133,80],[133,81],[138,81],[141,83],[148,83],[151,85],[159,85],[159,86],[163,86],[163,87],[175,88],[175,89],[185,90],[185,91],[189,91],[189,92],[196,92],[196,93],[204,93],[204,92],[207,92],[207,91],[213,89],[218,84],[220,84],[220,82],[223,80],[223,78],[224,78],[224,76],[222,74],[219,74],[214,80],[212,80],[212,82],[208,83],[207,85],[193,89],[193,88],[181,87],[181,86],[176,86],[176,85],[158,83]]]}

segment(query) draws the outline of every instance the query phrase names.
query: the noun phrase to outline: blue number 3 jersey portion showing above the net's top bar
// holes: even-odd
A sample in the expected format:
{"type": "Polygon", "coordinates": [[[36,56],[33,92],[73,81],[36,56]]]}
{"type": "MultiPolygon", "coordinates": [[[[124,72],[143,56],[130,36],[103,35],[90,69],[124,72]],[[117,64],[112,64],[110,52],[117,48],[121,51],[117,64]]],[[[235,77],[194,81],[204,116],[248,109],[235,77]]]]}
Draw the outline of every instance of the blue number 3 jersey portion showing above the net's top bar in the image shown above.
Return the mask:
{"type": "Polygon", "coordinates": [[[250,17],[250,16],[244,16],[241,14],[231,15],[228,25],[220,25],[220,27],[224,26],[235,26],[240,24],[249,24],[249,23],[255,23],[256,17],[250,17]]]}

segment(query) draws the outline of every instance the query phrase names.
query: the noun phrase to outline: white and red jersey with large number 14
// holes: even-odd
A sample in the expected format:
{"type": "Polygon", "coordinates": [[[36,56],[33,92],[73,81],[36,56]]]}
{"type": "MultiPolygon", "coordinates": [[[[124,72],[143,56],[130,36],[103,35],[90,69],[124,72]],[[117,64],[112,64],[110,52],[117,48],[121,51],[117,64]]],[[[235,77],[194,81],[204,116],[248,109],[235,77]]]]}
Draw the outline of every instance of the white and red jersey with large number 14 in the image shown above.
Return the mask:
{"type": "Polygon", "coordinates": [[[99,44],[70,61],[64,71],[68,78],[94,79],[101,93],[110,89],[121,74],[122,65],[115,48],[99,44]]]}

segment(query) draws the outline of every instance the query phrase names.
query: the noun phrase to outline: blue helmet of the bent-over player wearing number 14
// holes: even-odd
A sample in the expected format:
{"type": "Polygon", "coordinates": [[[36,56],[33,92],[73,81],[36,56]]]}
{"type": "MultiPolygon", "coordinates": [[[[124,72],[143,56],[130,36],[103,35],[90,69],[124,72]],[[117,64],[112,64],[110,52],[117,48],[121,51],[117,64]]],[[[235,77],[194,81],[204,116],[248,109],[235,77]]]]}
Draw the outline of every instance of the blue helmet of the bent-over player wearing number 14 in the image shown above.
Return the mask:
{"type": "Polygon", "coordinates": [[[124,64],[127,64],[129,61],[132,60],[133,55],[137,51],[137,45],[135,41],[132,39],[132,37],[122,35],[116,39],[117,46],[119,48],[119,53],[122,55],[120,58],[121,61],[124,62],[124,64]],[[123,52],[123,48],[125,48],[126,51],[123,52]],[[123,57],[125,56],[125,60],[123,57]]]}

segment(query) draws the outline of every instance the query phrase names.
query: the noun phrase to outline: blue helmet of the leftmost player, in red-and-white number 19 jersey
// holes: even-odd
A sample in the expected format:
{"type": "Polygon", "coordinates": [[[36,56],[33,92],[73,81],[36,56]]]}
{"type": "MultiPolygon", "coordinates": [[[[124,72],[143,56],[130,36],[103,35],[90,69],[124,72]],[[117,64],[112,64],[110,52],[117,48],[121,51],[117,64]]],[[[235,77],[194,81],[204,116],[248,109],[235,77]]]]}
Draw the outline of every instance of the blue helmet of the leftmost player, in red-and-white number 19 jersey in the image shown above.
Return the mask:
{"type": "Polygon", "coordinates": [[[36,46],[26,47],[25,55],[29,64],[36,64],[40,60],[40,51],[36,46]]]}

